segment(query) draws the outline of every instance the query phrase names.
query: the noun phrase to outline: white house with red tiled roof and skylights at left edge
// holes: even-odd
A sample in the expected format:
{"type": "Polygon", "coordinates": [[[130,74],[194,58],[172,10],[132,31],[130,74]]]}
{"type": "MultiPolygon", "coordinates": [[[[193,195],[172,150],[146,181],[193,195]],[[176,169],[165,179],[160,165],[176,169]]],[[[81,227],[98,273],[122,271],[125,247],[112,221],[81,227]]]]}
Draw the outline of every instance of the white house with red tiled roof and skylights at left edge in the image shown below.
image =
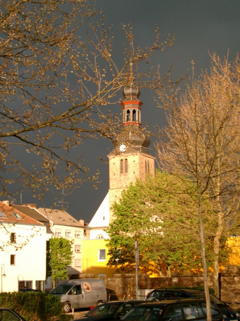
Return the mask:
{"type": "Polygon", "coordinates": [[[46,226],[0,202],[1,292],[44,290],[46,226]]]}

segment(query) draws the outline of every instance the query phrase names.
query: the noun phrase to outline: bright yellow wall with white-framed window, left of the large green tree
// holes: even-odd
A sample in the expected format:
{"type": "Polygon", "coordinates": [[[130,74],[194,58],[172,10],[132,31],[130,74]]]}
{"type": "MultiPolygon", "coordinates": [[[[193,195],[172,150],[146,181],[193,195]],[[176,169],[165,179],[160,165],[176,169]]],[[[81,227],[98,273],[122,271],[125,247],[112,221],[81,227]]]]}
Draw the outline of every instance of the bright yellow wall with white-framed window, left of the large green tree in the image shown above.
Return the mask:
{"type": "Polygon", "coordinates": [[[116,268],[108,267],[107,262],[109,260],[108,248],[106,247],[105,239],[90,239],[82,241],[82,273],[83,274],[95,274],[95,277],[98,277],[98,274],[104,273],[106,277],[112,278],[113,273],[117,273],[116,268]],[[106,250],[106,260],[98,260],[98,250],[106,250]]]}

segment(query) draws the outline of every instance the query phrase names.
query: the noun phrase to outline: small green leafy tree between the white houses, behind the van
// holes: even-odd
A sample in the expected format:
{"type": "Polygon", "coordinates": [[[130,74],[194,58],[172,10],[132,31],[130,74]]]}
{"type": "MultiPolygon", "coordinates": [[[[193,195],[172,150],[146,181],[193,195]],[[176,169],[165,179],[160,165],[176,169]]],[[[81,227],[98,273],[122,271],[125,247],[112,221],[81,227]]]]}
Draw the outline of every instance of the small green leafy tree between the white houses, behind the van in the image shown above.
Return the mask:
{"type": "Polygon", "coordinates": [[[52,278],[53,287],[57,279],[64,280],[68,277],[67,267],[72,263],[73,241],[64,238],[52,238],[47,241],[47,273],[52,278]]]}

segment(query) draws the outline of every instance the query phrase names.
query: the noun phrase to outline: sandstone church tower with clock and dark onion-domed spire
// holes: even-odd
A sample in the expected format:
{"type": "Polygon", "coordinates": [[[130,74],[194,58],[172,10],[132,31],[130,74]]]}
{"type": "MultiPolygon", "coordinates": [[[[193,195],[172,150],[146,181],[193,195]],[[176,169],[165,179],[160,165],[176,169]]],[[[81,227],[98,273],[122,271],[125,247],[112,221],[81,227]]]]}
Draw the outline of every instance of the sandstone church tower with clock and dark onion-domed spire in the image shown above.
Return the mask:
{"type": "MultiPolygon", "coordinates": [[[[123,124],[120,134],[114,141],[114,149],[109,158],[109,207],[118,202],[121,192],[136,179],[145,180],[148,174],[154,176],[155,157],[150,155],[147,147],[150,138],[141,128],[140,89],[130,83],[122,91],[124,100],[122,106],[123,124]]],[[[112,211],[109,213],[112,221],[112,211]]]]}

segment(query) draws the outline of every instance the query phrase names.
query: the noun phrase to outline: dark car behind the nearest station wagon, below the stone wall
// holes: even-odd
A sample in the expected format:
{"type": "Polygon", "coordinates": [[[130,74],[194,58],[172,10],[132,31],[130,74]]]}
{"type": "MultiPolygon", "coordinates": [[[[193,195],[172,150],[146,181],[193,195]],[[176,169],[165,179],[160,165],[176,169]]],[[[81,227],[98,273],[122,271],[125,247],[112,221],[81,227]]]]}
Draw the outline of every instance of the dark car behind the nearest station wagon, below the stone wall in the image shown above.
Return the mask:
{"type": "MultiPolygon", "coordinates": [[[[147,295],[147,300],[162,300],[167,298],[205,298],[205,293],[194,289],[155,289],[147,295]]],[[[210,294],[211,302],[218,305],[225,321],[240,321],[240,314],[227,303],[210,294]]]]}

